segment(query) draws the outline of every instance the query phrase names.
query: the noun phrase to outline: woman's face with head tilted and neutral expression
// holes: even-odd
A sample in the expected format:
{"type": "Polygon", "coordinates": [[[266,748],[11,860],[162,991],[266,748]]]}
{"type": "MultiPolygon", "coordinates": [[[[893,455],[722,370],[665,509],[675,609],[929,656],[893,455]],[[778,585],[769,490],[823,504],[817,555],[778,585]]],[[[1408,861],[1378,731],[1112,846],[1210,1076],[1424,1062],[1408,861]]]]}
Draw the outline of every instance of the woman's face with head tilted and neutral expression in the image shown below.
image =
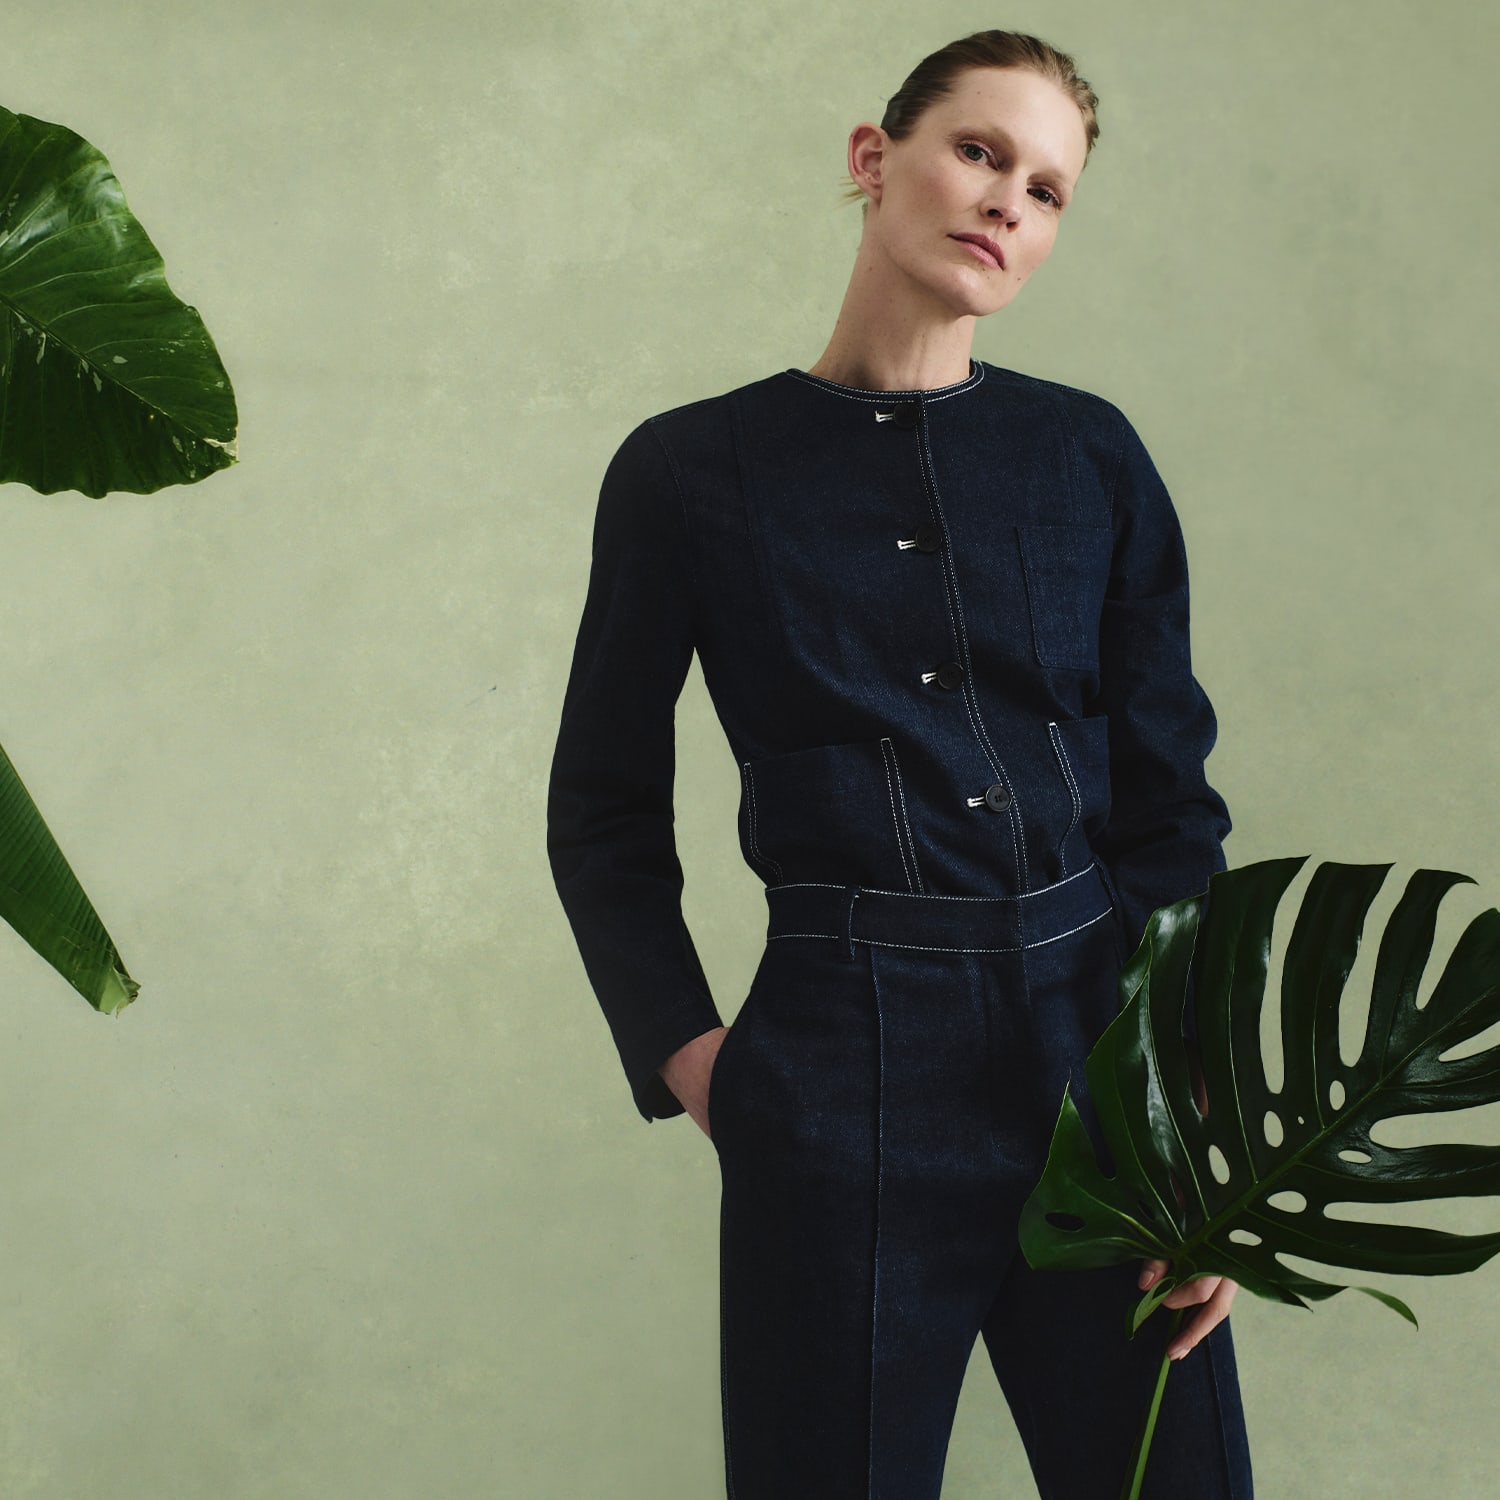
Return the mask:
{"type": "Polygon", "coordinates": [[[870,124],[850,135],[850,172],[872,200],[861,256],[982,318],[1047,258],[1086,154],[1083,116],[1054,82],[969,69],[904,141],[870,124]],[[1004,264],[960,236],[990,242],[1004,264]]]}

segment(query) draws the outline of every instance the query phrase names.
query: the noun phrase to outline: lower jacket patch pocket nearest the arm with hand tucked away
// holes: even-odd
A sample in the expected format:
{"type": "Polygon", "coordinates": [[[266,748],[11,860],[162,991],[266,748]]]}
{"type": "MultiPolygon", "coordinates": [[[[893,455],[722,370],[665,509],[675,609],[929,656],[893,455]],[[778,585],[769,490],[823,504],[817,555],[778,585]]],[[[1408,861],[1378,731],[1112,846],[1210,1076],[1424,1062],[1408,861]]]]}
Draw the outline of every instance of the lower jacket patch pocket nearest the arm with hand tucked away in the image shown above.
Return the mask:
{"type": "Polygon", "coordinates": [[[740,842],[759,874],[922,890],[890,738],[746,760],[740,778],[740,842]]]}

